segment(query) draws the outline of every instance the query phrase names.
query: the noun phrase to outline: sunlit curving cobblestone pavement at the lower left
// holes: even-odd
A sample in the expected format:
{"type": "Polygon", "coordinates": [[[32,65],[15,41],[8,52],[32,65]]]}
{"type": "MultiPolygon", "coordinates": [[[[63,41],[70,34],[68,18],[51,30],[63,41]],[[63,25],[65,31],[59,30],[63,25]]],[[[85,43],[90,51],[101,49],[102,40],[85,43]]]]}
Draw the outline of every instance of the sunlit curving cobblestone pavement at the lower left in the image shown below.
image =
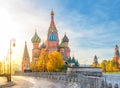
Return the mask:
{"type": "Polygon", "coordinates": [[[7,88],[67,88],[65,84],[43,78],[14,76],[15,85],[7,88]]]}

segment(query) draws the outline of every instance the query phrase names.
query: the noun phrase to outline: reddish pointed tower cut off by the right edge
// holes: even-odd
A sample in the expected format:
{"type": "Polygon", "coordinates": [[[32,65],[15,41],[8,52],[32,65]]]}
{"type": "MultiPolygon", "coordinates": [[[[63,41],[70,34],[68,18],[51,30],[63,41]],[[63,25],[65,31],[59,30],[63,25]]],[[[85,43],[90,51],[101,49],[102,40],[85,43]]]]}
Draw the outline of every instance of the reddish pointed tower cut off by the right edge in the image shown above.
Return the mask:
{"type": "Polygon", "coordinates": [[[120,68],[120,54],[119,54],[119,47],[118,47],[118,45],[115,46],[115,53],[114,53],[113,60],[115,61],[117,66],[120,68]]]}

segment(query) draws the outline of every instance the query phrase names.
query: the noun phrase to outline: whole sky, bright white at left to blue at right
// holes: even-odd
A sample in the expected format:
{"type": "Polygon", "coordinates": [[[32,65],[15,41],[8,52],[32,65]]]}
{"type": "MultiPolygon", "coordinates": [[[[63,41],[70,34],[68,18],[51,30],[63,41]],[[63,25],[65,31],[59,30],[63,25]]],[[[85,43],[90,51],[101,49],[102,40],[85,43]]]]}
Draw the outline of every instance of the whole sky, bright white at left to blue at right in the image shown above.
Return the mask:
{"type": "Polygon", "coordinates": [[[99,62],[113,57],[120,45],[120,0],[0,0],[0,60],[9,56],[12,38],[12,60],[21,63],[25,41],[31,57],[31,38],[37,29],[46,40],[52,9],[59,39],[66,32],[80,64],[91,64],[95,55],[99,62]]]}

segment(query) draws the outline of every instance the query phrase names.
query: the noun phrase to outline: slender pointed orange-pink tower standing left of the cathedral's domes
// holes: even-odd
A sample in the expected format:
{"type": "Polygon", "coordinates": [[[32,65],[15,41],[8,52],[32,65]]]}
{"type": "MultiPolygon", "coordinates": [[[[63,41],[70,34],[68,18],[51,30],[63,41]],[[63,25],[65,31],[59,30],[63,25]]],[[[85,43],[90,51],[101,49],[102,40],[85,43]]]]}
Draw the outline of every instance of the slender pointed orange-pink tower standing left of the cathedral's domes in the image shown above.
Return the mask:
{"type": "Polygon", "coordinates": [[[22,58],[22,72],[30,68],[30,57],[28,53],[27,43],[25,42],[25,48],[22,58]]]}

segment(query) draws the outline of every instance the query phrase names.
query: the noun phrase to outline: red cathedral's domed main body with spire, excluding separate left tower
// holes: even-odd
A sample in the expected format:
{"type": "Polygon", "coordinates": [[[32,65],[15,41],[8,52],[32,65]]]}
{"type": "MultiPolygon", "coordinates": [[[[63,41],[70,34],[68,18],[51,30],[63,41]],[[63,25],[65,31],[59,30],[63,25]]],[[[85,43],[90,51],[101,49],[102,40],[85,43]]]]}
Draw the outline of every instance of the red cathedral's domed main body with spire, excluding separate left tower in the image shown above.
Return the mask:
{"type": "Polygon", "coordinates": [[[67,35],[65,34],[62,38],[61,43],[59,43],[59,36],[58,36],[58,30],[55,26],[54,22],[54,12],[51,11],[51,22],[47,33],[47,39],[45,42],[41,43],[41,38],[38,36],[37,32],[35,31],[34,36],[31,39],[31,42],[33,44],[32,49],[32,62],[36,63],[36,59],[40,56],[40,52],[42,49],[45,49],[49,53],[53,51],[59,51],[63,54],[64,58],[70,57],[70,48],[68,46],[69,39],[67,35]]]}

